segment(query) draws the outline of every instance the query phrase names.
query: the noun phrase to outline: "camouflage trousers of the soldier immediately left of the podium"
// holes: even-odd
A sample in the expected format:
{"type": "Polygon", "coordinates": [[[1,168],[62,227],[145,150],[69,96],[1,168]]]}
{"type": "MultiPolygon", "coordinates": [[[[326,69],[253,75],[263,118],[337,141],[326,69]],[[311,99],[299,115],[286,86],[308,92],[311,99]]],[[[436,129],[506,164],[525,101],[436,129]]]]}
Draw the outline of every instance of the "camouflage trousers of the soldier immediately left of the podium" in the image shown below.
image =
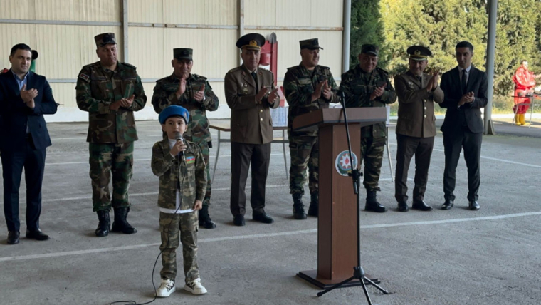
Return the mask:
{"type": "Polygon", "coordinates": [[[320,143],[319,138],[311,135],[289,137],[291,166],[289,169],[290,194],[304,194],[306,167],[308,167],[308,188],[310,194],[319,190],[320,143]]]}

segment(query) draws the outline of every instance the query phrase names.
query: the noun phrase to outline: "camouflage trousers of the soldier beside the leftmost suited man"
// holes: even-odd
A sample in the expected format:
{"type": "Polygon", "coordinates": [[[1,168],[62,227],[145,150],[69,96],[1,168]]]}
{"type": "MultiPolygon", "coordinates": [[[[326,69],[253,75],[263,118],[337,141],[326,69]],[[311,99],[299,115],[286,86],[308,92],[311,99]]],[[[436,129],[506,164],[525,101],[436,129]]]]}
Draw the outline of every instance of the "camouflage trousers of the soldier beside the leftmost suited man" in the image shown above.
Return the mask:
{"type": "Polygon", "coordinates": [[[127,191],[133,171],[133,142],[89,143],[93,212],[129,207],[127,191]],[[109,182],[112,173],[112,200],[109,182]]]}

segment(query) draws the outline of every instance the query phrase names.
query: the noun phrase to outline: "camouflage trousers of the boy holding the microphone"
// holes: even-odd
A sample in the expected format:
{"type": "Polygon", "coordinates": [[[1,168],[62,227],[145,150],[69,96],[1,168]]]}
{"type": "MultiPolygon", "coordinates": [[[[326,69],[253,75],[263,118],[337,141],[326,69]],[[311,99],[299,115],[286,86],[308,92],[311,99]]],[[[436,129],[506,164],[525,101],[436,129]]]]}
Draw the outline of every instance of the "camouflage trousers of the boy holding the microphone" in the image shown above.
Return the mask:
{"type": "Polygon", "coordinates": [[[177,248],[182,242],[182,261],[184,262],[184,281],[199,277],[197,266],[197,212],[168,214],[159,212],[159,231],[162,234],[162,279],[174,281],[177,277],[177,248]]]}

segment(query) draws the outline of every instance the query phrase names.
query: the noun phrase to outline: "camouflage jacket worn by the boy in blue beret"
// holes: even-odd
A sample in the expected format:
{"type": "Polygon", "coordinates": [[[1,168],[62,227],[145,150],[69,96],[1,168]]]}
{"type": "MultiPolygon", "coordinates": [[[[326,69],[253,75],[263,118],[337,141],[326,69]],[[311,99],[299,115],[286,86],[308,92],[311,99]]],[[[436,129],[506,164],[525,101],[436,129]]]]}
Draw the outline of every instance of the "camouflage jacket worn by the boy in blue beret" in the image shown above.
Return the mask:
{"type": "Polygon", "coordinates": [[[164,138],[152,147],[151,167],[154,175],[159,176],[158,206],[175,209],[177,190],[182,191],[180,210],[194,207],[196,200],[203,201],[206,192],[205,161],[201,148],[193,142],[185,141],[186,162],[179,156],[173,157],[169,148],[169,139],[164,138]]]}

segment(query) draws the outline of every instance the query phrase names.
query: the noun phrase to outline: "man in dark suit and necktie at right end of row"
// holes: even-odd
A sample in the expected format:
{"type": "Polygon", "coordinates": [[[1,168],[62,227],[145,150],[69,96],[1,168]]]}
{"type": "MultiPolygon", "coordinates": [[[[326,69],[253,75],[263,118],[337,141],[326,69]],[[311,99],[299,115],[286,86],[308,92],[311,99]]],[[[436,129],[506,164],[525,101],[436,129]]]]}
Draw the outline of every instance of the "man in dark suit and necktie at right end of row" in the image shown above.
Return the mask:
{"type": "Polygon", "coordinates": [[[479,161],[483,140],[481,110],[487,103],[488,81],[486,73],[471,64],[473,46],[462,41],[455,47],[458,67],[443,73],[441,89],[445,93],[441,108],[447,108],[441,125],[445,170],[443,171],[443,210],[453,207],[456,183],[456,165],[461,150],[468,167],[468,202],[470,210],[479,210],[478,190],[480,185],[479,161]]]}

